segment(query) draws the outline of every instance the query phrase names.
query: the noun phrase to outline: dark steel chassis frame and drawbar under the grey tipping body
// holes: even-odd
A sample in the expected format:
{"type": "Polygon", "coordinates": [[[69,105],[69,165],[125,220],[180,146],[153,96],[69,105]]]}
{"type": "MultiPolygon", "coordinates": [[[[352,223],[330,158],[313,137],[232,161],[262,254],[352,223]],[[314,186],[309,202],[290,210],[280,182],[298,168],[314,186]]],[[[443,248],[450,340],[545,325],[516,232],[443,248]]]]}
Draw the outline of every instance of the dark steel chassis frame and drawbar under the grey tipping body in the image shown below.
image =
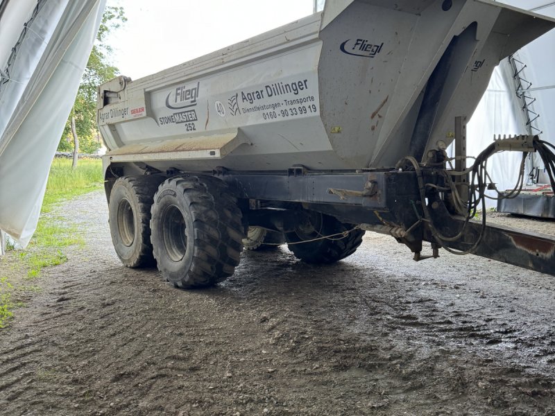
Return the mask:
{"type": "Polygon", "coordinates": [[[302,211],[318,211],[344,223],[393,236],[409,247],[416,261],[428,258],[421,254],[423,242],[431,243],[430,257],[438,257],[440,247],[465,251],[480,238],[472,254],[555,275],[555,239],[506,227],[483,227],[476,221],[466,223],[449,211],[446,193],[437,190],[445,187],[440,171],[422,170],[426,183],[437,186],[427,191],[424,202],[432,221],[425,218],[414,171],[316,172],[293,166],[284,173],[218,168],[212,174],[226,182],[239,198],[250,200],[246,216],[250,225],[288,232],[306,219],[302,211]],[[253,204],[256,201],[277,209],[259,211],[253,204]],[[460,238],[438,241],[434,230],[444,236],[460,234],[460,238]]]}

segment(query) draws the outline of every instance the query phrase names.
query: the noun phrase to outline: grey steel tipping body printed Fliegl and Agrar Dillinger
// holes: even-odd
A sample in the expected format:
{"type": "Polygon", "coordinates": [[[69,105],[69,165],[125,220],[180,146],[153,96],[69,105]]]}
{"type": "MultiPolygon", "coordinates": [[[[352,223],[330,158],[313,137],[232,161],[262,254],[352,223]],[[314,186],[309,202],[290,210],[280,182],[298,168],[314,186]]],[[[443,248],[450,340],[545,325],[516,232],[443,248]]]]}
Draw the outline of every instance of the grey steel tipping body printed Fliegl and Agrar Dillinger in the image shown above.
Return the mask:
{"type": "Polygon", "coordinates": [[[448,144],[454,116],[472,114],[499,60],[553,25],[493,1],[329,1],[240,44],[102,85],[105,164],[113,153],[160,170],[393,166],[448,144]]]}

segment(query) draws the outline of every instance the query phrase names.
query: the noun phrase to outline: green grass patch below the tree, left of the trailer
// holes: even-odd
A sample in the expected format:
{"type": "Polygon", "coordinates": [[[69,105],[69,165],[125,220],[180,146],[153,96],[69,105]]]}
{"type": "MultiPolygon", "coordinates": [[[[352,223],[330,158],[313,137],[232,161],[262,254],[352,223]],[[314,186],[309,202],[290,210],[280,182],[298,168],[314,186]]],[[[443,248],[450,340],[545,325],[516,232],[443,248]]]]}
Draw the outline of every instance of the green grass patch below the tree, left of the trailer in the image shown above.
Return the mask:
{"type": "Polygon", "coordinates": [[[76,170],[71,169],[71,159],[54,159],[31,243],[26,250],[12,250],[0,257],[0,329],[6,327],[16,308],[41,291],[34,280],[30,285],[29,279],[40,277],[45,267],[65,263],[65,248],[85,245],[83,230],[53,216],[54,206],[102,187],[100,159],[80,159],[76,170]]]}

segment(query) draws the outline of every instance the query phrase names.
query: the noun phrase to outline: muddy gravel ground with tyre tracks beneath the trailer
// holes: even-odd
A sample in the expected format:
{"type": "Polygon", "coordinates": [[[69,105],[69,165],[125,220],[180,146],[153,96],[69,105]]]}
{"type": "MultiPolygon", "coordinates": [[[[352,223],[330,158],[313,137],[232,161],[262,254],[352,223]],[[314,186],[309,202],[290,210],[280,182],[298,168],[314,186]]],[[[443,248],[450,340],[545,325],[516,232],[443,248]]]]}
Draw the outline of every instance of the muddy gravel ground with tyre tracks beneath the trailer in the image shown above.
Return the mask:
{"type": "Polygon", "coordinates": [[[121,266],[103,193],[60,213],[87,245],[0,332],[2,415],[555,415],[552,277],[415,263],[367,233],[333,266],[245,252],[224,284],[180,291],[121,266]]]}

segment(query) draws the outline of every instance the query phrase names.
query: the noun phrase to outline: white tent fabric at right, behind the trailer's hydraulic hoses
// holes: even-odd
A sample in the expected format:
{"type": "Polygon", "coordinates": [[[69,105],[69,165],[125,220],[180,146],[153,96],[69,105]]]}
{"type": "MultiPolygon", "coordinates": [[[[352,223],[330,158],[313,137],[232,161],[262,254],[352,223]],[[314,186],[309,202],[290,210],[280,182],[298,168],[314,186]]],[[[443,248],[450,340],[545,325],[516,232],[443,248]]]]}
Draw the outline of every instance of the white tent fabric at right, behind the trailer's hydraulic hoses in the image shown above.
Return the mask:
{"type": "MultiPolygon", "coordinates": [[[[550,17],[555,17],[555,2],[547,0],[501,0],[501,3],[524,8],[550,17]]],[[[515,58],[526,65],[520,76],[531,83],[527,96],[536,98],[531,109],[540,114],[532,124],[542,133],[540,139],[555,144],[555,31],[546,33],[515,53],[515,58]]],[[[524,83],[524,87],[527,84],[524,83]]],[[[531,100],[528,100],[529,102],[531,100]]],[[[534,134],[537,134],[534,131],[534,134]]],[[[467,126],[467,154],[478,155],[493,141],[494,135],[528,134],[522,101],[516,95],[514,71],[508,60],[503,60],[493,73],[488,89],[467,126]]],[[[506,152],[497,154],[488,163],[488,171],[502,191],[513,189],[518,178],[522,155],[506,152]]],[[[535,166],[543,168],[541,159],[535,155],[535,166]]],[[[529,173],[529,166],[525,174],[529,173]]],[[[540,182],[548,182],[540,175],[540,182]]],[[[488,195],[494,196],[490,191],[488,195]]],[[[486,200],[488,207],[497,206],[497,201],[486,200]]]]}

